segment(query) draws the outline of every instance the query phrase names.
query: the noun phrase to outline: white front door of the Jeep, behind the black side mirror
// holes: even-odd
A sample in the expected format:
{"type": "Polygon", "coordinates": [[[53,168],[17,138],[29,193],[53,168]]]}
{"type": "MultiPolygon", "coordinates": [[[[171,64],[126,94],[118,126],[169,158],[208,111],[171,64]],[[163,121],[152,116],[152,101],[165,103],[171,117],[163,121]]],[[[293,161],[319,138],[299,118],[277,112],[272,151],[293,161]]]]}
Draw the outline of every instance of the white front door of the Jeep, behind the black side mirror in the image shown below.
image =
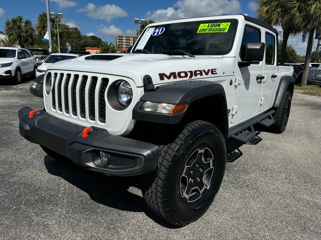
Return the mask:
{"type": "MultiPolygon", "coordinates": [[[[259,43],[262,40],[263,28],[256,24],[246,24],[240,47],[239,60],[245,61],[247,43],[259,43]]],[[[256,80],[257,76],[264,75],[263,62],[252,62],[248,67],[236,66],[236,77],[241,83],[234,86],[233,106],[231,106],[231,123],[236,123],[247,117],[254,116],[258,108],[262,84],[256,80]],[[233,111],[238,110],[236,113],[233,111]]]]}

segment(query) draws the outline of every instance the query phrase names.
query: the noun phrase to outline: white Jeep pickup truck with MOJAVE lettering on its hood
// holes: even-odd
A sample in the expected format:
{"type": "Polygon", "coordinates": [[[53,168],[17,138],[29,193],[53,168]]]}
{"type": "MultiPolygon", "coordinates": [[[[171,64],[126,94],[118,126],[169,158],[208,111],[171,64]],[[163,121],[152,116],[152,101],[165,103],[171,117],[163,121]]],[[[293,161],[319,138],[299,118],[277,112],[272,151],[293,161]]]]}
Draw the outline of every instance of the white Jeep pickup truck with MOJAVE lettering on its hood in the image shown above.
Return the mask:
{"type": "Polygon", "coordinates": [[[140,175],[152,211],[187,225],[220,188],[226,139],[285,130],[293,67],[277,53],[278,31],[244,15],[153,23],[128,53],[50,65],[45,109],[20,109],[20,134],[91,171],[140,175]]]}

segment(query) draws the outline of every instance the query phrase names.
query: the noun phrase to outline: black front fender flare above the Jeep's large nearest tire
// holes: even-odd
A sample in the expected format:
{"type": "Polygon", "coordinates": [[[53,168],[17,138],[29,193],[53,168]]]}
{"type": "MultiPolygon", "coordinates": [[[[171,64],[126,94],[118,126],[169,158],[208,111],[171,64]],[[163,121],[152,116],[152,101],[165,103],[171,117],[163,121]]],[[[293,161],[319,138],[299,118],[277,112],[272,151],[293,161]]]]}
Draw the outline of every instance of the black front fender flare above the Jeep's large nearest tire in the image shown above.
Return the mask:
{"type": "Polygon", "coordinates": [[[225,133],[227,133],[228,113],[224,88],[221,84],[205,80],[163,84],[157,86],[155,91],[145,92],[133,108],[133,119],[161,124],[177,124],[181,121],[192,102],[214,95],[218,96],[221,100],[224,129],[225,133]],[[187,103],[187,109],[182,113],[173,115],[147,112],[142,110],[145,101],[169,104],[187,103]]]}

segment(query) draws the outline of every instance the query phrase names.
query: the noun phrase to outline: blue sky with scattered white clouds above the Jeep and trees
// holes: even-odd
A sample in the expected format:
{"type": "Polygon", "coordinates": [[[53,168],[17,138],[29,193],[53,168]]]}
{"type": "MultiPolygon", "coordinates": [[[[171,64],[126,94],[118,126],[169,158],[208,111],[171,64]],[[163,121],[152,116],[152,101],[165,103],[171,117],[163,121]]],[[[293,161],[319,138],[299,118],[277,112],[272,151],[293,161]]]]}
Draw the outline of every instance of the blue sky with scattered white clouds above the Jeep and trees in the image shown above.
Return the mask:
{"type": "MultiPolygon", "coordinates": [[[[49,0],[49,7],[50,12],[62,12],[65,23],[77,26],[82,34],[112,42],[114,34],[135,34],[134,18],[162,21],[237,13],[255,17],[256,10],[255,1],[251,0],[49,0]]],[[[29,18],[35,24],[41,11],[46,11],[44,0],[1,0],[0,31],[4,20],[16,15],[29,18]]],[[[299,54],[305,54],[306,44],[300,39],[290,38],[289,43],[299,54]]]]}

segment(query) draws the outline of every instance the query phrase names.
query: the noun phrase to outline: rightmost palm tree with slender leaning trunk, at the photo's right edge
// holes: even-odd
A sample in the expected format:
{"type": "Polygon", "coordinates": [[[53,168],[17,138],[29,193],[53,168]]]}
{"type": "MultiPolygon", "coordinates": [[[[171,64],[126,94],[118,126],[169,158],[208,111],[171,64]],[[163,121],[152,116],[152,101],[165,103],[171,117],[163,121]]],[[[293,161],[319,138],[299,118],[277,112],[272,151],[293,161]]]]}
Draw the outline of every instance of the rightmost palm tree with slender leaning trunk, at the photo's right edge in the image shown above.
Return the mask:
{"type": "Polygon", "coordinates": [[[293,14],[293,23],[302,28],[302,42],[308,35],[308,45],[305,54],[304,69],[301,86],[306,86],[308,81],[309,64],[313,46],[314,32],[321,28],[321,1],[320,0],[291,0],[286,4],[293,14]]]}

